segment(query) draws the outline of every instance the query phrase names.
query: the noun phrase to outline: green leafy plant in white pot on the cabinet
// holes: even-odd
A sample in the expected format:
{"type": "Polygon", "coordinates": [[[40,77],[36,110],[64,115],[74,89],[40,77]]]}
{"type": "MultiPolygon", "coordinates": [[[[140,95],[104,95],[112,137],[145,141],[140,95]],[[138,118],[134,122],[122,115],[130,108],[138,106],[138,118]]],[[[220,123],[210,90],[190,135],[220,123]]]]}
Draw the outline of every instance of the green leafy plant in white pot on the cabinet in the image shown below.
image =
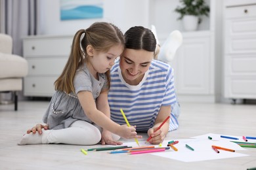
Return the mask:
{"type": "Polygon", "coordinates": [[[178,20],[182,20],[186,31],[194,31],[202,22],[201,16],[208,16],[209,6],[204,0],[180,0],[182,7],[177,7],[175,12],[180,14],[178,20]]]}

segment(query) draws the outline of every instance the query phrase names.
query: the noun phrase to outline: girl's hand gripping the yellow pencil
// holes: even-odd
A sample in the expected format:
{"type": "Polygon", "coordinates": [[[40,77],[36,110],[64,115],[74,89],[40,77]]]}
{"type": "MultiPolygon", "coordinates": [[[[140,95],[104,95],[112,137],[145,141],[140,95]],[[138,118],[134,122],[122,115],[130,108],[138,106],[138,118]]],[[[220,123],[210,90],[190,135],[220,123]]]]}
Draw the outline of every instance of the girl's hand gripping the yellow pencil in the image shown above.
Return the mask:
{"type": "Polygon", "coordinates": [[[131,138],[142,138],[141,135],[137,135],[136,132],[136,126],[130,126],[127,125],[121,125],[119,129],[119,133],[117,134],[120,137],[123,137],[125,139],[131,139],[131,138]]]}

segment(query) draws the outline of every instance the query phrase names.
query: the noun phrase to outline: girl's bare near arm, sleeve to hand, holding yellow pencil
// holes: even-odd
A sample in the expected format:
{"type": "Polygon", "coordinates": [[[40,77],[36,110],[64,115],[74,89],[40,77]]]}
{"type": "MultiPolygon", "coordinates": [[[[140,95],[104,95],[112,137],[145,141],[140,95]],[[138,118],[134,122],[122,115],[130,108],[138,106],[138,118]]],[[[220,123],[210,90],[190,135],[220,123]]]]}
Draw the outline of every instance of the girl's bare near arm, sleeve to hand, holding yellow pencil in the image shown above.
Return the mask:
{"type": "Polygon", "coordinates": [[[83,110],[88,116],[88,118],[95,122],[98,126],[103,129],[107,129],[112,133],[119,135],[124,138],[134,138],[137,137],[137,132],[135,127],[127,127],[126,125],[120,126],[114,121],[110,120],[103,112],[96,108],[95,100],[93,99],[93,94],[89,91],[81,91],[77,93],[77,97],[83,110]]]}

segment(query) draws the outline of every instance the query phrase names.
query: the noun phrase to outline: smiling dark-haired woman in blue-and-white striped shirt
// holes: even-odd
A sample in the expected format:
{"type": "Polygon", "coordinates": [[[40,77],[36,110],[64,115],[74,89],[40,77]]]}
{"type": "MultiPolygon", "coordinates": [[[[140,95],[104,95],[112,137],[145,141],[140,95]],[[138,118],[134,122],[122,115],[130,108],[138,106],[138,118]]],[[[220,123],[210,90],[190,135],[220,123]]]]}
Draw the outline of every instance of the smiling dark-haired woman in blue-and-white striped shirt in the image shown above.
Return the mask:
{"type": "Polygon", "coordinates": [[[179,126],[179,103],[173,69],[154,60],[155,49],[156,39],[150,29],[137,26],[125,33],[125,50],[111,71],[108,103],[114,122],[125,124],[119,110],[123,109],[129,124],[147,132],[152,137],[150,143],[159,144],[168,131],[179,126]],[[156,131],[167,116],[170,120],[156,131]]]}

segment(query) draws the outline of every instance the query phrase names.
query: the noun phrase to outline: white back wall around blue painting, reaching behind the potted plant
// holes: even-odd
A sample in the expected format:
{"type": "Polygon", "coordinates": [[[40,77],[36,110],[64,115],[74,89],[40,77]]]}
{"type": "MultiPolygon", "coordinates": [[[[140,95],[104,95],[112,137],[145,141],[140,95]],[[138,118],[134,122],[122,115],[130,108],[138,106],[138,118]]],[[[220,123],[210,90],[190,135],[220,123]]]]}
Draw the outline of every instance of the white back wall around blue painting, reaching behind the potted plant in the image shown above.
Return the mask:
{"type": "MultiPolygon", "coordinates": [[[[182,31],[179,14],[174,12],[179,0],[104,0],[104,18],[87,20],[60,20],[60,1],[45,0],[41,3],[42,35],[73,35],[78,29],[93,22],[112,22],[125,32],[129,27],[156,25],[159,37],[167,37],[171,31],[182,31]]],[[[209,0],[206,0],[209,3],[209,0]]],[[[203,18],[199,29],[209,29],[209,18],[203,18]]]]}

